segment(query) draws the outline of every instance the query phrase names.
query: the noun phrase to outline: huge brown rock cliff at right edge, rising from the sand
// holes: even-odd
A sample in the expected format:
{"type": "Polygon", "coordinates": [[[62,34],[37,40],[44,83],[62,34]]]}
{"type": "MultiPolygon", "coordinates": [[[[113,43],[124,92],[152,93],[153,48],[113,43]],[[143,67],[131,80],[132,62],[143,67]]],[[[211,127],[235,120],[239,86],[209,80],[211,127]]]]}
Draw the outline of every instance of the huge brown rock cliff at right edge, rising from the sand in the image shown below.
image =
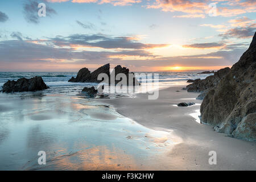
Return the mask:
{"type": "Polygon", "coordinates": [[[256,141],[256,34],[249,49],[201,104],[201,122],[220,133],[256,141]]]}

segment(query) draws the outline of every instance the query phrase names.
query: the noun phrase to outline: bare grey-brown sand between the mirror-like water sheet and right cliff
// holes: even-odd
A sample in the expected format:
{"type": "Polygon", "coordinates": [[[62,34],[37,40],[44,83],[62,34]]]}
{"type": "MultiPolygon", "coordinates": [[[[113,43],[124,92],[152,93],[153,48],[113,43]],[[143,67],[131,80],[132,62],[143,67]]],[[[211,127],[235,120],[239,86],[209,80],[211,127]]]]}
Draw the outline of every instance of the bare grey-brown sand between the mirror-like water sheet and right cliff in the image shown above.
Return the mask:
{"type": "Polygon", "coordinates": [[[187,93],[182,87],[160,90],[158,100],[148,100],[148,95],[143,93],[135,98],[98,100],[150,129],[173,131],[171,140],[175,145],[161,160],[152,160],[151,166],[141,169],[158,169],[152,167],[158,164],[161,170],[256,170],[256,143],[226,137],[216,133],[212,126],[199,123],[195,118],[200,114],[201,101],[195,100],[198,93],[187,93]],[[179,102],[196,105],[177,107],[179,102]],[[209,151],[216,151],[216,165],[209,164],[209,151]]]}

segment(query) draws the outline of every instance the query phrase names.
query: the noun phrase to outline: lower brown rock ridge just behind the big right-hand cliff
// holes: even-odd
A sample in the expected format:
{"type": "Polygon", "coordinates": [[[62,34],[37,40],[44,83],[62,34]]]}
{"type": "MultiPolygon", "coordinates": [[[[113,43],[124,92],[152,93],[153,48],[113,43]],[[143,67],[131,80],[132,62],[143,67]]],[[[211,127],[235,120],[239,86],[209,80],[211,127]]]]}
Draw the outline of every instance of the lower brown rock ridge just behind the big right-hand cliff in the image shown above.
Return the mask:
{"type": "Polygon", "coordinates": [[[204,90],[212,89],[218,85],[218,82],[228,74],[230,68],[226,67],[215,72],[214,75],[208,76],[204,80],[193,82],[186,87],[188,92],[203,92],[204,90]]]}

